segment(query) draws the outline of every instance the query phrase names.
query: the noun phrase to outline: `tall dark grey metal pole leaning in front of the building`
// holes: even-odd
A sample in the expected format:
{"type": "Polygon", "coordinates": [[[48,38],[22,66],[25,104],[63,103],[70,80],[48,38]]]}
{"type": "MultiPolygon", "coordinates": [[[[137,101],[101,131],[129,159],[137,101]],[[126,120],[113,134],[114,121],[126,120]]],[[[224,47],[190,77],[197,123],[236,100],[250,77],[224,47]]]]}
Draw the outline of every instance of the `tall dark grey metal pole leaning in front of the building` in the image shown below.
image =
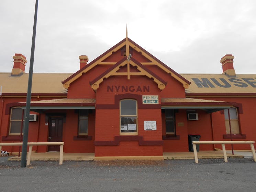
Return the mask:
{"type": "Polygon", "coordinates": [[[38,0],[35,1],[35,16],[34,16],[33,35],[32,35],[31,55],[30,55],[29,82],[27,84],[27,100],[26,100],[25,122],[24,122],[24,131],[23,131],[22,153],[21,153],[21,167],[26,167],[26,158],[27,158],[27,138],[29,135],[29,112],[30,112],[32,76],[33,76],[34,53],[35,53],[37,7],[38,7],[38,0]]]}

